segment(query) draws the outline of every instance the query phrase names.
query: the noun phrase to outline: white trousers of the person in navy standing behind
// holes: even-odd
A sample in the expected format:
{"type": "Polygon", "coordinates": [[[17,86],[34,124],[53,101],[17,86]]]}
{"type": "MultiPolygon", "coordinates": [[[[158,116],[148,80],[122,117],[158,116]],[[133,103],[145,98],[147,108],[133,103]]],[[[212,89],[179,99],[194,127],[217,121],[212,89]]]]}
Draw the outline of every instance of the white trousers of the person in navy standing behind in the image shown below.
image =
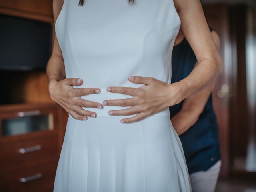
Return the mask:
{"type": "Polygon", "coordinates": [[[221,161],[216,162],[206,171],[190,174],[190,183],[193,192],[214,192],[220,173],[221,161]]]}

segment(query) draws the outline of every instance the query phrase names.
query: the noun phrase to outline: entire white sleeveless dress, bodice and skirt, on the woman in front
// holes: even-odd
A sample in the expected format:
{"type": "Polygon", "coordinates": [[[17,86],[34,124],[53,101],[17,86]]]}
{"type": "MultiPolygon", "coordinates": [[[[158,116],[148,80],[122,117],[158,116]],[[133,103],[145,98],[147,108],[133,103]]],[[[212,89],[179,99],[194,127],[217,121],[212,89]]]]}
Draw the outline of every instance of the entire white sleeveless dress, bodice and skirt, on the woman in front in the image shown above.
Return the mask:
{"type": "MultiPolygon", "coordinates": [[[[132,98],[110,93],[108,86],[140,87],[129,75],[170,83],[171,52],[180,28],[173,0],[64,0],[55,30],[66,77],[82,78],[83,87],[100,94],[81,96],[102,103],[132,98]]],[[[143,120],[109,110],[129,106],[85,108],[97,113],[87,121],[69,116],[56,171],[54,192],[189,192],[182,145],[166,108],[143,120]]]]}

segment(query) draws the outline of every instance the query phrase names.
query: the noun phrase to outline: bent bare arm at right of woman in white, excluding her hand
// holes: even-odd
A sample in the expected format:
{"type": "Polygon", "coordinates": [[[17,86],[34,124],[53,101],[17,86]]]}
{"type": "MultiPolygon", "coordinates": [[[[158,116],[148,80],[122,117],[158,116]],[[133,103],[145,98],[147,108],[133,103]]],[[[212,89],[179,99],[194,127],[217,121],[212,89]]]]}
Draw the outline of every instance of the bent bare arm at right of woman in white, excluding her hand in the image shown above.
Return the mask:
{"type": "MultiPolygon", "coordinates": [[[[178,91],[178,102],[172,96],[168,106],[184,100],[199,92],[213,82],[222,70],[222,61],[215,46],[214,39],[204,17],[199,0],[174,0],[176,10],[181,19],[181,31],[190,44],[198,65],[183,80],[170,84],[170,88],[178,91]]],[[[172,90],[171,90],[172,91],[172,90]]]]}

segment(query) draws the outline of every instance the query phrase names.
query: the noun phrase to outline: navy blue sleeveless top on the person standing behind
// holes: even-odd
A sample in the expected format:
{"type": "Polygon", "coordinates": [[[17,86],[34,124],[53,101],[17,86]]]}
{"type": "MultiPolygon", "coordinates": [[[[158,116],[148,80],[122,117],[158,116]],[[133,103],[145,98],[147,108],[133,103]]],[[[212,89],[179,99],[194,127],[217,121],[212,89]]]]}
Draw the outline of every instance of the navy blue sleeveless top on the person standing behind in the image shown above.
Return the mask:
{"type": "MultiPolygon", "coordinates": [[[[212,30],[212,29],[211,29],[212,30]]],[[[190,74],[196,64],[196,56],[184,40],[176,45],[172,51],[172,83],[178,82],[190,74]]],[[[170,106],[170,118],[177,114],[184,100],[170,106]]],[[[198,121],[186,132],[180,135],[189,174],[208,170],[220,160],[220,146],[218,138],[218,124],[210,94],[198,121]]]]}

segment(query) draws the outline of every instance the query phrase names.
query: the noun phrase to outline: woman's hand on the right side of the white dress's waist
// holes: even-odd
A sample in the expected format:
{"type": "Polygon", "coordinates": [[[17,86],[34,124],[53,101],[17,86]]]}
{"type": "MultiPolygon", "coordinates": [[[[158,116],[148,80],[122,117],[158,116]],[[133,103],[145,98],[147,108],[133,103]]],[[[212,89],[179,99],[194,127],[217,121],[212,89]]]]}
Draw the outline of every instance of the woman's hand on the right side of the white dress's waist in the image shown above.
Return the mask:
{"type": "Polygon", "coordinates": [[[153,77],[129,76],[132,83],[145,84],[138,88],[114,87],[107,88],[108,92],[131,95],[132,98],[104,100],[103,105],[108,106],[131,106],[122,110],[110,110],[109,115],[132,115],[131,118],[122,119],[123,123],[131,123],[142,120],[164,110],[165,108],[178,104],[182,101],[182,92],[177,83],[167,84],[153,77]]]}

